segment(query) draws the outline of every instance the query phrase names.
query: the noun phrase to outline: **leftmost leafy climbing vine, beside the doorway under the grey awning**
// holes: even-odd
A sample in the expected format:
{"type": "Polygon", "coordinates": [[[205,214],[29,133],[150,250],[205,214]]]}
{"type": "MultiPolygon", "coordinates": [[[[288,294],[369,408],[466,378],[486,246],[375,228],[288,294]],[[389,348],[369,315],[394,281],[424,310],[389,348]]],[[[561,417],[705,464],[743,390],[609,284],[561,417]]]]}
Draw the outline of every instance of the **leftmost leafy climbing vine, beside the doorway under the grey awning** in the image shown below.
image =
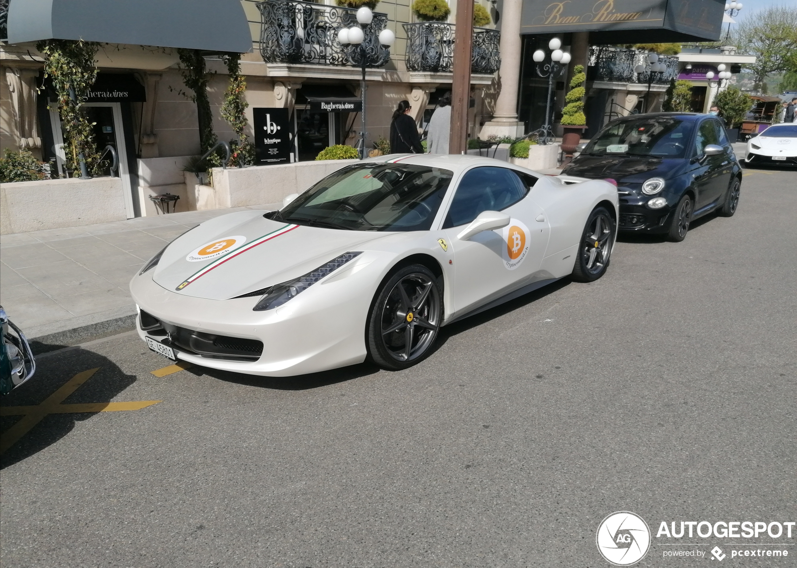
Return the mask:
{"type": "MultiPolygon", "coordinates": [[[[83,156],[89,174],[100,174],[100,153],[97,151],[92,123],[80,107],[96,80],[94,57],[99,44],[82,40],[39,41],[36,49],[45,59],[45,77],[53,82],[58,112],[64,128],[66,167],[80,171],[83,156]]],[[[49,107],[48,107],[49,108],[49,107]]]]}

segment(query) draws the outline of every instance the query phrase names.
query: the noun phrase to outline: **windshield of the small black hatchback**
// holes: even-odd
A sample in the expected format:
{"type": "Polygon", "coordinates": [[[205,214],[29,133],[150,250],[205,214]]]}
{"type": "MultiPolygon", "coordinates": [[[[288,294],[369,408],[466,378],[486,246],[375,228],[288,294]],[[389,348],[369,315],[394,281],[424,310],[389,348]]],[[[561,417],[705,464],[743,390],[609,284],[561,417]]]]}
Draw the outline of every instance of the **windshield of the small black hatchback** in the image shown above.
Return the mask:
{"type": "Polygon", "coordinates": [[[593,139],[585,154],[683,158],[693,122],[673,116],[640,116],[621,120],[593,139]]]}

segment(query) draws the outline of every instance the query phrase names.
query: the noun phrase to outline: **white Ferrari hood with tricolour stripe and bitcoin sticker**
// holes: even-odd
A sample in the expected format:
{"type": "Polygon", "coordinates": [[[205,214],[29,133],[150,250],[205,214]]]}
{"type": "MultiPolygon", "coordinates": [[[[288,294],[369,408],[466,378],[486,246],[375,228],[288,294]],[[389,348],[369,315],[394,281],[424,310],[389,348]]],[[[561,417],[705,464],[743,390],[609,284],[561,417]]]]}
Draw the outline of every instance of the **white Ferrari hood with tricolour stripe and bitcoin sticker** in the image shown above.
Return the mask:
{"type": "Polygon", "coordinates": [[[240,211],[205,221],[172,242],[152,278],[178,294],[227,300],[301,276],[383,236],[271,221],[262,211],[240,211]]]}

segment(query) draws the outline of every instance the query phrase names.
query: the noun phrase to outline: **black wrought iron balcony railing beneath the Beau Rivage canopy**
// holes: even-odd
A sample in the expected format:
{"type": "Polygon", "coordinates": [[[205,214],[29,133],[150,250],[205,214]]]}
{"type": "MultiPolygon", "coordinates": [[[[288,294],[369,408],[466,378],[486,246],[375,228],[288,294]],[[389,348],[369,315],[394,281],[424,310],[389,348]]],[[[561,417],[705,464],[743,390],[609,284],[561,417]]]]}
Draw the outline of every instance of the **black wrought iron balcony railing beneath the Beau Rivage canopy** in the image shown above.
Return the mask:
{"type": "Polygon", "coordinates": [[[635,49],[618,49],[600,45],[590,48],[590,59],[587,64],[587,80],[614,81],[618,83],[667,84],[678,76],[678,58],[660,55],[658,62],[666,65],[665,71],[655,72],[651,76],[650,62],[647,53],[638,53],[635,49]],[[634,68],[644,65],[645,70],[637,73],[634,68]]]}

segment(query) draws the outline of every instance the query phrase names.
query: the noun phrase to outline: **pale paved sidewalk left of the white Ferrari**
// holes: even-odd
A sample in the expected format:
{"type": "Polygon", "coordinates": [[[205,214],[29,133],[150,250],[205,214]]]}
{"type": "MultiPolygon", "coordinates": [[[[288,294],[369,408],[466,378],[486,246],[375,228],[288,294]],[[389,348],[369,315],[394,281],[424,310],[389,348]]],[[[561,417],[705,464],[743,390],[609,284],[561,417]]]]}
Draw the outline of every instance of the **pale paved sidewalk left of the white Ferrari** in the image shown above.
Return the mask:
{"type": "Polygon", "coordinates": [[[138,217],[0,237],[0,303],[29,338],[135,313],[128,283],[167,242],[207,219],[281,204],[138,217]]]}

